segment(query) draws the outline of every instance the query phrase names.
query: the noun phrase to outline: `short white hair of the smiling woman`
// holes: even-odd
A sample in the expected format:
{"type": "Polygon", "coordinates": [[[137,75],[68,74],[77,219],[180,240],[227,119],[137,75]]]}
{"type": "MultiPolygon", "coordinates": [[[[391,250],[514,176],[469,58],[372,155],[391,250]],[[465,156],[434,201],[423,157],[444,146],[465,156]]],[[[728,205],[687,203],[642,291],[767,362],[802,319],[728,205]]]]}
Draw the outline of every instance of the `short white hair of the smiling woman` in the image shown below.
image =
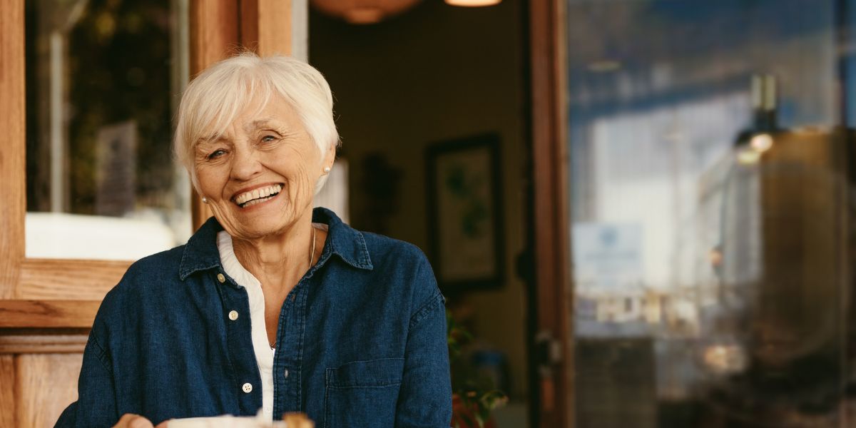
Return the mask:
{"type": "MultiPolygon", "coordinates": [[[[197,142],[211,137],[212,131],[215,135],[223,133],[247,105],[259,101],[259,109],[263,109],[276,96],[291,104],[322,157],[330,146],[339,146],[333,95],[317,69],[292,56],[241,53],[205,68],[181,96],[173,148],[193,187],[199,190],[193,165],[197,142]]],[[[321,176],[315,193],[324,187],[326,179],[327,175],[321,176]]]]}

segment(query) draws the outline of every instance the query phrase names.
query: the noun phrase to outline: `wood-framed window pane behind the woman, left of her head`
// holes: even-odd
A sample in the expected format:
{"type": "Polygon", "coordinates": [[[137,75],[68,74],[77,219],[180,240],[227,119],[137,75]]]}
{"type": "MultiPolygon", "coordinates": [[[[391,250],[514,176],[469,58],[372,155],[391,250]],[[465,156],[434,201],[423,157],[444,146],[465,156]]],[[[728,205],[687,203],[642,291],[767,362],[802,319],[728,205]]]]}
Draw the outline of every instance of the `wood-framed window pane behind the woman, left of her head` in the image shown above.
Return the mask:
{"type": "Polygon", "coordinates": [[[172,161],[187,0],[32,0],[27,257],[139,259],[190,235],[172,161]]]}

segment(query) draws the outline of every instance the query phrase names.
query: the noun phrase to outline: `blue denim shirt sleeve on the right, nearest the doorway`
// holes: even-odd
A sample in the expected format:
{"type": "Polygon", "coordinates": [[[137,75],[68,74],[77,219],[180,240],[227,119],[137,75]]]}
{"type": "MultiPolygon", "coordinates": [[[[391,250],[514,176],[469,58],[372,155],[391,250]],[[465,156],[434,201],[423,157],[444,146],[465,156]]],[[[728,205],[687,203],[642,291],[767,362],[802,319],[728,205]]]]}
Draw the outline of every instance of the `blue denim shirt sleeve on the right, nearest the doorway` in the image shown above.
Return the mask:
{"type": "Polygon", "coordinates": [[[433,295],[410,319],[395,426],[448,428],[452,419],[452,385],[443,294],[437,289],[427,261],[417,278],[429,282],[433,295]]]}

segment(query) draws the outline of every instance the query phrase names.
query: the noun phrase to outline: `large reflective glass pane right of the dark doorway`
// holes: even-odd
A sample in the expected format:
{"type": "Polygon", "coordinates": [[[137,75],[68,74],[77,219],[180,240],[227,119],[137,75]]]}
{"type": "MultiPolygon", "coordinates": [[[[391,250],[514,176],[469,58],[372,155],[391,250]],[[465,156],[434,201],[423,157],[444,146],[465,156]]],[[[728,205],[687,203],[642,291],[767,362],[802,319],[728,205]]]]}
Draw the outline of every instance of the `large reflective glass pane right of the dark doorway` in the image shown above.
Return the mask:
{"type": "Polygon", "coordinates": [[[565,1],[577,426],[846,426],[856,2],[565,1]]]}

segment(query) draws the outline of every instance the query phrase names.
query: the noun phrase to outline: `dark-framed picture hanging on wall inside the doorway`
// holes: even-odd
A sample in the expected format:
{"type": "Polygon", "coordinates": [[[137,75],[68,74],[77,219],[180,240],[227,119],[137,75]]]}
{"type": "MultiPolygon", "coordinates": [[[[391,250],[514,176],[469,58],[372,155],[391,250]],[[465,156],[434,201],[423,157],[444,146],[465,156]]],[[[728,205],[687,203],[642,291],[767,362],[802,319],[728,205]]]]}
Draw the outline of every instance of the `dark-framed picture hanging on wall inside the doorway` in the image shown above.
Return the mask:
{"type": "Polygon", "coordinates": [[[499,137],[482,134],[428,146],[429,257],[446,294],[503,280],[499,137]]]}

